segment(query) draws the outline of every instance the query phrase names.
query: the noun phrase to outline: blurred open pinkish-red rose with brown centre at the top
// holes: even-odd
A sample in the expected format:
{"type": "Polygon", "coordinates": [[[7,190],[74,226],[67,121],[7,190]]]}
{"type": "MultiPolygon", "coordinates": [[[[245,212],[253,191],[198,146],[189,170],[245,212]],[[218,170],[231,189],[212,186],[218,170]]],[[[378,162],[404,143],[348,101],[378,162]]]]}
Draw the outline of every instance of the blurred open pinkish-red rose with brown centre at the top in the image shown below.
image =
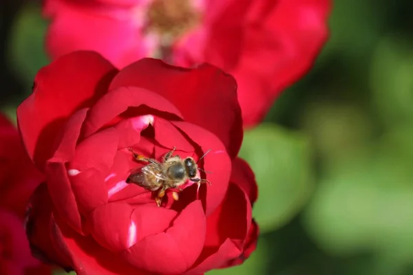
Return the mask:
{"type": "Polygon", "coordinates": [[[221,67],[235,76],[251,126],[313,65],[330,0],[47,0],[44,11],[53,58],[94,50],[119,68],[145,56],[221,67]]]}

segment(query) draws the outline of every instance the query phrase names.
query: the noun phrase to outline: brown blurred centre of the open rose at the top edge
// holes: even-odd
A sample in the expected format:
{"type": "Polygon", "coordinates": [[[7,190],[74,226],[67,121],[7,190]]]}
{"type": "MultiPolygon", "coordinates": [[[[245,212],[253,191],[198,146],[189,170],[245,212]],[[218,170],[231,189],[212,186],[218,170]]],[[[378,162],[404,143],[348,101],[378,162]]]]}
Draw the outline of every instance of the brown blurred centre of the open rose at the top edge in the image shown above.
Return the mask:
{"type": "Polygon", "coordinates": [[[154,0],[147,12],[147,30],[174,40],[200,23],[200,12],[190,0],[154,0]]]}

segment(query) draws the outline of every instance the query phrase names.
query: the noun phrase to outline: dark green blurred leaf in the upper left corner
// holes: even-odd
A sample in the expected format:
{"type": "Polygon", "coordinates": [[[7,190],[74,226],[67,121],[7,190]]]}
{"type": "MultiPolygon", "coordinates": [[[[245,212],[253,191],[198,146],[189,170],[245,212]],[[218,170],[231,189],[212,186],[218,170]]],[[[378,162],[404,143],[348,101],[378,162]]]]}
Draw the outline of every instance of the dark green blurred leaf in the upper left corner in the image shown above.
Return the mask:
{"type": "Polygon", "coordinates": [[[23,83],[32,87],[39,69],[49,63],[44,50],[47,22],[41,17],[41,8],[34,4],[24,5],[12,28],[8,45],[9,63],[23,83]]]}

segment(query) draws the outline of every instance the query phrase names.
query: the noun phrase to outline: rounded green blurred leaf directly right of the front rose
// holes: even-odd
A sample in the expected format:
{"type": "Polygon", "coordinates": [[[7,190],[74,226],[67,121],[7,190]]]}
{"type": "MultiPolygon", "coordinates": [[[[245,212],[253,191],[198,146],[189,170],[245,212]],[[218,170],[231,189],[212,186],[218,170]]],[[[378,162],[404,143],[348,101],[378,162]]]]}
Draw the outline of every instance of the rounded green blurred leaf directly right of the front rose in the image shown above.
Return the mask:
{"type": "Polygon", "coordinates": [[[258,184],[253,216],[262,232],[292,219],[312,190],[311,157],[303,135],[274,124],[246,131],[240,156],[251,165],[258,184]]]}

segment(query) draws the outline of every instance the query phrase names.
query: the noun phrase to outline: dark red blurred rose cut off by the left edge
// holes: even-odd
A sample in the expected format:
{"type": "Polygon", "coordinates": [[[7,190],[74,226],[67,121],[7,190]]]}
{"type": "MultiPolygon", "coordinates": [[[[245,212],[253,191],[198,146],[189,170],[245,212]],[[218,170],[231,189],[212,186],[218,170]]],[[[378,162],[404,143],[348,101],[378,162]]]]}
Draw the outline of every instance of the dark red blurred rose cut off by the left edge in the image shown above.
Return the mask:
{"type": "Polygon", "coordinates": [[[25,208],[43,177],[21,144],[17,129],[0,114],[0,274],[51,274],[30,254],[25,208]]]}

